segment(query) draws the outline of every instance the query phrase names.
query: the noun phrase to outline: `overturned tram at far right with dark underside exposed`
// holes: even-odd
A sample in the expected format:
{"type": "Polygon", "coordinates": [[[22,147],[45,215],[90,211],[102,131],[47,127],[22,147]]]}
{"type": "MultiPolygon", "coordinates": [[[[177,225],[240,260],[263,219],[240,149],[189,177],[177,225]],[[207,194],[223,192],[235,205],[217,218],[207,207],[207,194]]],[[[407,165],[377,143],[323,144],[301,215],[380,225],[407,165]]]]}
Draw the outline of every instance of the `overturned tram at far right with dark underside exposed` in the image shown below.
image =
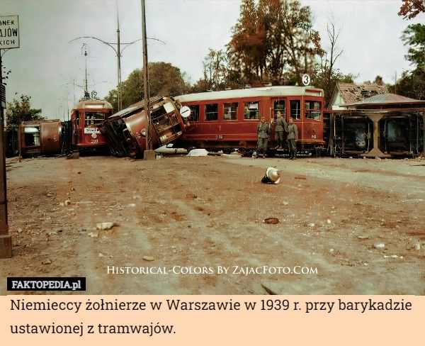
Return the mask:
{"type": "Polygon", "coordinates": [[[424,153],[425,101],[383,94],[325,111],[331,156],[415,157],[424,153]]]}

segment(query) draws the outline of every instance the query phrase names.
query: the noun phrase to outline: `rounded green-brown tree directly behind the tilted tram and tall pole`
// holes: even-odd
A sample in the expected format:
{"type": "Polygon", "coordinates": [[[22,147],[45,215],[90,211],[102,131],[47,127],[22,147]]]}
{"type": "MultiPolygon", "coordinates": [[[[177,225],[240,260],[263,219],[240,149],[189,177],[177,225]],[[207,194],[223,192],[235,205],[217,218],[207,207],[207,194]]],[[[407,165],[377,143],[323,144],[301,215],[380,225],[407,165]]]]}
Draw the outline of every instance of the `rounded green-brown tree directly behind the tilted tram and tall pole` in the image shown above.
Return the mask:
{"type": "MultiPolygon", "coordinates": [[[[186,94],[190,85],[185,81],[186,74],[168,62],[149,62],[149,96],[176,96],[186,94]]],[[[133,70],[122,83],[123,107],[128,107],[145,98],[143,69],[133,70]]],[[[117,91],[111,90],[105,100],[114,109],[118,108],[117,91]]]]}

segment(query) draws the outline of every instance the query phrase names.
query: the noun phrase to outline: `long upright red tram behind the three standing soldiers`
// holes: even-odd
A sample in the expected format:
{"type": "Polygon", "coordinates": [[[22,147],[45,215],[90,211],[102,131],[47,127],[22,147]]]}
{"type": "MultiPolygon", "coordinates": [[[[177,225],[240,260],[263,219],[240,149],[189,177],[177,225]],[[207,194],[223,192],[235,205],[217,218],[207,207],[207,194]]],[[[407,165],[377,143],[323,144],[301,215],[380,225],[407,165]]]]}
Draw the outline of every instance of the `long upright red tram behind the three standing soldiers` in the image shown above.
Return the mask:
{"type": "Polygon", "coordinates": [[[239,152],[256,148],[256,125],[261,116],[271,124],[269,155],[284,155],[276,147],[274,128],[280,111],[288,123],[290,117],[297,125],[298,153],[311,155],[322,148],[323,90],[304,86],[264,86],[250,89],[210,91],[175,97],[182,106],[191,108],[190,126],[178,145],[198,147],[209,151],[239,152]]]}

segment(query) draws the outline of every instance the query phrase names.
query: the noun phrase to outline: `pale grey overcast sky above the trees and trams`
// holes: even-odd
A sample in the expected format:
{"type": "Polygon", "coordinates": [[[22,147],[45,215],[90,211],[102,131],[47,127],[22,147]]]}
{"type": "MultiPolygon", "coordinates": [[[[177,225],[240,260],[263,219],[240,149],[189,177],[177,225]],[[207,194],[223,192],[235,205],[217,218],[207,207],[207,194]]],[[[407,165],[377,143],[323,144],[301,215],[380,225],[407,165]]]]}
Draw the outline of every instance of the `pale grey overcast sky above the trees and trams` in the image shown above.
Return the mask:
{"type": "MultiPolygon", "coordinates": [[[[224,49],[229,42],[240,4],[242,0],[146,0],[149,62],[171,62],[196,82],[202,77],[208,48],[224,49]]],[[[395,76],[410,68],[400,36],[409,24],[424,23],[424,13],[403,20],[397,16],[401,0],[301,0],[301,4],[311,7],[325,49],[327,23],[334,18],[340,29],[338,51],[343,51],[337,67],[358,74],[356,82],[373,81],[379,74],[385,83],[394,84],[395,76]]],[[[83,95],[85,70],[88,89],[98,97],[115,89],[117,9],[125,81],[142,67],[140,0],[1,0],[0,16],[18,15],[20,31],[20,48],[1,50],[3,71],[11,70],[6,101],[31,96],[31,107],[42,108],[42,116],[67,120],[83,95]]]]}

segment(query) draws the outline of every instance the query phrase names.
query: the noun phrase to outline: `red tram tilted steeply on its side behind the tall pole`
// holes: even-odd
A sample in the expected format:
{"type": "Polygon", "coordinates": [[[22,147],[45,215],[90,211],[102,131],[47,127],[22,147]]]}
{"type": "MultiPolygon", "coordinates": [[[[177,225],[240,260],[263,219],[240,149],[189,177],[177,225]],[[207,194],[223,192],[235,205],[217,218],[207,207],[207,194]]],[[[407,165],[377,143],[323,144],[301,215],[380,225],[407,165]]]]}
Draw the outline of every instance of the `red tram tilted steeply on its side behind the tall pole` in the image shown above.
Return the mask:
{"type": "MultiPolygon", "coordinates": [[[[152,149],[157,149],[181,137],[186,120],[180,113],[179,104],[169,98],[158,96],[150,99],[152,122],[152,149]]],[[[143,157],[146,150],[145,101],[137,102],[103,121],[101,133],[108,138],[113,155],[133,158],[143,157]]]]}

